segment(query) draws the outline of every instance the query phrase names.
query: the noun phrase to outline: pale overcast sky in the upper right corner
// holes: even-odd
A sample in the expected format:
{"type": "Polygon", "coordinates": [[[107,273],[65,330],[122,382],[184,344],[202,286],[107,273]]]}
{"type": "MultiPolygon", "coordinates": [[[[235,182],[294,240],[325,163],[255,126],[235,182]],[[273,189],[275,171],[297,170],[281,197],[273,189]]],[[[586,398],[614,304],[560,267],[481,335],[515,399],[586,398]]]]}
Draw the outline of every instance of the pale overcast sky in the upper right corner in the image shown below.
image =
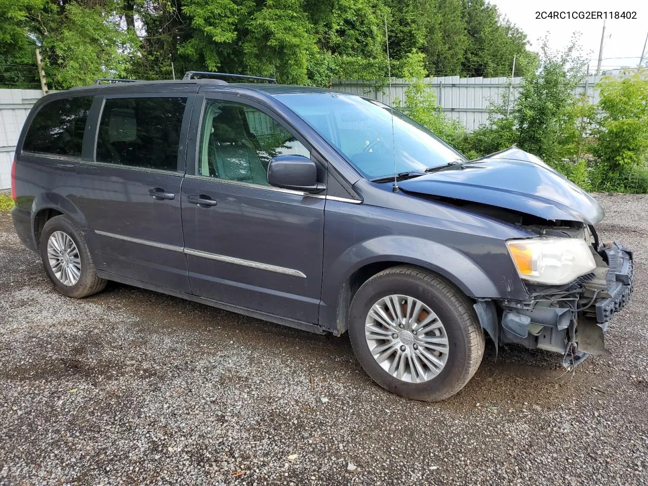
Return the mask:
{"type": "MultiPolygon", "coordinates": [[[[648,0],[489,0],[500,13],[526,32],[531,51],[537,51],[538,38],[549,34],[551,49],[566,47],[573,32],[581,32],[583,57],[590,59],[590,71],[596,71],[601,43],[603,20],[586,19],[536,19],[537,11],[544,12],[636,12],[636,19],[608,19],[605,22],[603,62],[601,69],[636,66],[642,55],[643,43],[648,33],[648,0]]],[[[648,57],[646,47],[645,58],[648,57]]]]}

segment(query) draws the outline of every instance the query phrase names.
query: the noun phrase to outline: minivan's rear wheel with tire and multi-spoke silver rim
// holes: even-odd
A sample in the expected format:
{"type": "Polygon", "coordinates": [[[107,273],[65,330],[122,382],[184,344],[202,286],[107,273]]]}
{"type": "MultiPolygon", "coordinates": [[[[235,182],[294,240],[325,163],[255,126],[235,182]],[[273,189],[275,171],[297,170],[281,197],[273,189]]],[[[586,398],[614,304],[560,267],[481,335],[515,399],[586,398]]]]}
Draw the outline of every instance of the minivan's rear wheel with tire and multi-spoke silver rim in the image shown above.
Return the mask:
{"type": "Polygon", "coordinates": [[[82,231],[67,216],[54,216],[45,223],[39,249],[47,276],[61,294],[80,299],[106,287],[106,280],[97,276],[82,231]]]}

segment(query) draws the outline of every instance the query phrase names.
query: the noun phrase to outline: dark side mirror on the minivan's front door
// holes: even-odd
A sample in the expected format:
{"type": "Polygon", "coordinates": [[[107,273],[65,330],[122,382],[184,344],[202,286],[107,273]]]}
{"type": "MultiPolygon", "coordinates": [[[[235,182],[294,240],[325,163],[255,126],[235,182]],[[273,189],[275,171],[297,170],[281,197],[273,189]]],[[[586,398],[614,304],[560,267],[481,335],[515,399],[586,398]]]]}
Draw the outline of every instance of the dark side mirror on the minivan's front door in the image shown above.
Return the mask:
{"type": "Polygon", "coordinates": [[[321,192],[325,186],[318,183],[318,168],[308,157],[277,156],[270,159],[268,183],[283,189],[303,192],[321,192]]]}

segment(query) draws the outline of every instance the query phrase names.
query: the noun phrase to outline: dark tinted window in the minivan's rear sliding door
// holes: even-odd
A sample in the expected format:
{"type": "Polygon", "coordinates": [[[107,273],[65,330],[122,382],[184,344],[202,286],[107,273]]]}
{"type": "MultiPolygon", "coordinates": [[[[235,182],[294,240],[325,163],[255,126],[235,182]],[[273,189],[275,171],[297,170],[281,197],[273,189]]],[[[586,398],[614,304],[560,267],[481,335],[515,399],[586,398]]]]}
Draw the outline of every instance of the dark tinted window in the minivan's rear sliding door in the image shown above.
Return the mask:
{"type": "Polygon", "coordinates": [[[109,98],[99,122],[97,161],[178,170],[187,98],[109,98]]]}

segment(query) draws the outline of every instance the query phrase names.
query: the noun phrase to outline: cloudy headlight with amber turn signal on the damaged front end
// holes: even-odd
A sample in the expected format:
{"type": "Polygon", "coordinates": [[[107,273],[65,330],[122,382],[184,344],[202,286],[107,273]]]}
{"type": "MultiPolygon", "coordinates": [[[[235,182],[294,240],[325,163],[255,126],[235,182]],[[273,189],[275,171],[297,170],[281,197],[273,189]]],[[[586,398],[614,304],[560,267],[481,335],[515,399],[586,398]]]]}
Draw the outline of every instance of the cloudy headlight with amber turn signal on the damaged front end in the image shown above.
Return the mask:
{"type": "Polygon", "coordinates": [[[590,247],[579,238],[531,238],[506,242],[522,279],[562,285],[596,268],[590,247]]]}

